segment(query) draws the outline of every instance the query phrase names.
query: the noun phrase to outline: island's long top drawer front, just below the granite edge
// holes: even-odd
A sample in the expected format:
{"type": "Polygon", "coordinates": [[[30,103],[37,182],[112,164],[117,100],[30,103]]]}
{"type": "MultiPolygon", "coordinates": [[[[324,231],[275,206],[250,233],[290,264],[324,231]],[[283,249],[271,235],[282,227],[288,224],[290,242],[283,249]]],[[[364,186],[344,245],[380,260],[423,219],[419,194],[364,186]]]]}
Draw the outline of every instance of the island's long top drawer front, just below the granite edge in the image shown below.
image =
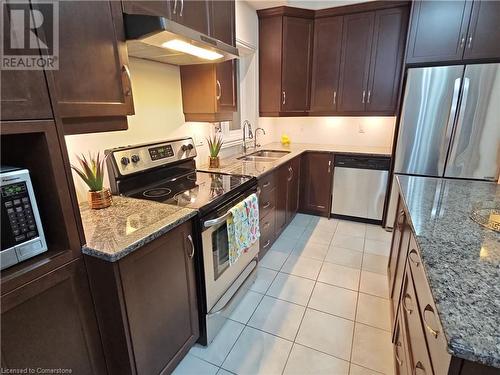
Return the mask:
{"type": "Polygon", "coordinates": [[[408,264],[415,283],[420,319],[422,320],[427,346],[429,347],[429,355],[432,360],[432,365],[434,366],[434,372],[436,374],[446,374],[450,365],[451,356],[446,351],[446,338],[444,337],[436,306],[434,305],[427,278],[422,268],[422,261],[417,249],[417,244],[413,237],[410,242],[408,264]]]}

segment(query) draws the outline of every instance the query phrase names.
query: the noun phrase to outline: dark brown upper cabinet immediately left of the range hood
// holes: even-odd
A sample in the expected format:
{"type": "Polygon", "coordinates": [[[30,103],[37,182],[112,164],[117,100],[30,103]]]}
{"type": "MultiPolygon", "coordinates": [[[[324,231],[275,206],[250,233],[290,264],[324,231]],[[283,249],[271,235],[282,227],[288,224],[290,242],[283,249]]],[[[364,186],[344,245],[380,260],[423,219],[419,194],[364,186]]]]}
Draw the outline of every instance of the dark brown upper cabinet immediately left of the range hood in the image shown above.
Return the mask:
{"type": "Polygon", "coordinates": [[[49,73],[66,134],[127,129],[134,103],[121,4],[60,2],[59,69],[49,73]]]}

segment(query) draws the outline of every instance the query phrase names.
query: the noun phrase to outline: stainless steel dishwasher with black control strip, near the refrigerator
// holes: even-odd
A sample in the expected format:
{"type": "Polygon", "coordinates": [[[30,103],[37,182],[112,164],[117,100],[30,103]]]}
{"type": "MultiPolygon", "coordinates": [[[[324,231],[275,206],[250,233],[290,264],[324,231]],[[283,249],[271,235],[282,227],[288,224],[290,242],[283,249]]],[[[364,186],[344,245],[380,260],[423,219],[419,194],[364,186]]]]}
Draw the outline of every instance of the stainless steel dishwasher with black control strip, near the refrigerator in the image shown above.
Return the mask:
{"type": "Polygon", "coordinates": [[[332,216],[380,223],[390,158],[336,155],[332,216]]]}

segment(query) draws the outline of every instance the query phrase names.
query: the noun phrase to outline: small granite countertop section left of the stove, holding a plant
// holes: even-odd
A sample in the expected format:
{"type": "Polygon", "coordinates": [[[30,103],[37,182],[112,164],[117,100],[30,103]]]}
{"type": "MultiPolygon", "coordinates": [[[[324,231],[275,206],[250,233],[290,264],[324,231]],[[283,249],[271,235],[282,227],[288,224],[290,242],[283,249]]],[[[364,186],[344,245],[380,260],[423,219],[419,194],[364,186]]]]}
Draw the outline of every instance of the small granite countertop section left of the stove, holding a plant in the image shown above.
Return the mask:
{"type": "Polygon", "coordinates": [[[80,205],[87,243],[82,252],[116,262],[197,214],[196,210],[142,199],[113,196],[101,210],[80,205]]]}

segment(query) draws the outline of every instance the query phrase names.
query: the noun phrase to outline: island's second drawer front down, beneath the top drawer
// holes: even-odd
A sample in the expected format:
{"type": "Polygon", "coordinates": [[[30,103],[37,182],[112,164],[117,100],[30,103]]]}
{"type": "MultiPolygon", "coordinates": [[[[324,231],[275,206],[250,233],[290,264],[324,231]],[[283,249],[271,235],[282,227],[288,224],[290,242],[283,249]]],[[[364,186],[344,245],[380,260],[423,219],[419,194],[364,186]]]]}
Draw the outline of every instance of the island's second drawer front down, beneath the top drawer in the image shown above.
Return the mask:
{"type": "Polygon", "coordinates": [[[410,267],[406,267],[401,293],[400,312],[407,327],[409,362],[411,373],[432,374],[431,360],[425,341],[425,334],[420,321],[417,296],[413,286],[410,267]],[[417,371],[420,370],[420,371],[417,371]]]}

